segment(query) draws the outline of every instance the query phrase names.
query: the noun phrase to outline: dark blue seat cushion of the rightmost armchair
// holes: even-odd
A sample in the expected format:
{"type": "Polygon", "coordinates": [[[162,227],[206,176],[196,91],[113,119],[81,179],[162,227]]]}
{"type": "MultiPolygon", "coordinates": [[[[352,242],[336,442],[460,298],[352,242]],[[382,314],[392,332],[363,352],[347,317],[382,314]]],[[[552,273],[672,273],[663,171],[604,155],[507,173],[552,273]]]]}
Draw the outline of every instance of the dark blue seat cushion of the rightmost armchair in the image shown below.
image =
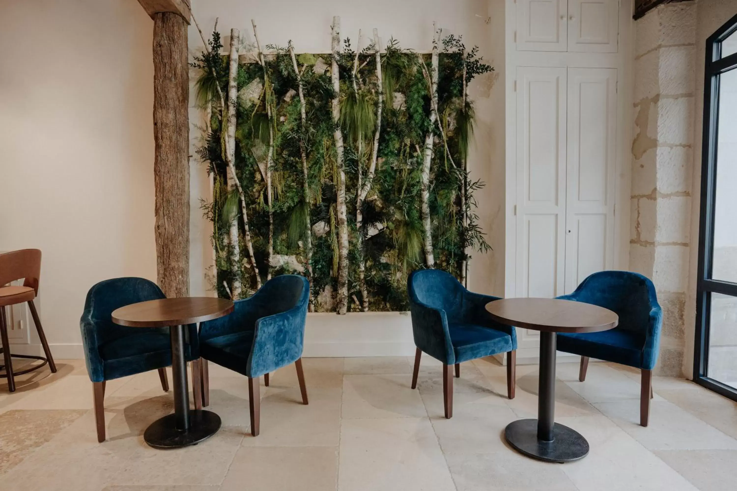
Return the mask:
{"type": "Polygon", "coordinates": [[[590,356],[629,367],[643,366],[645,336],[642,333],[614,328],[598,333],[559,333],[558,349],[575,355],[590,356]]]}

